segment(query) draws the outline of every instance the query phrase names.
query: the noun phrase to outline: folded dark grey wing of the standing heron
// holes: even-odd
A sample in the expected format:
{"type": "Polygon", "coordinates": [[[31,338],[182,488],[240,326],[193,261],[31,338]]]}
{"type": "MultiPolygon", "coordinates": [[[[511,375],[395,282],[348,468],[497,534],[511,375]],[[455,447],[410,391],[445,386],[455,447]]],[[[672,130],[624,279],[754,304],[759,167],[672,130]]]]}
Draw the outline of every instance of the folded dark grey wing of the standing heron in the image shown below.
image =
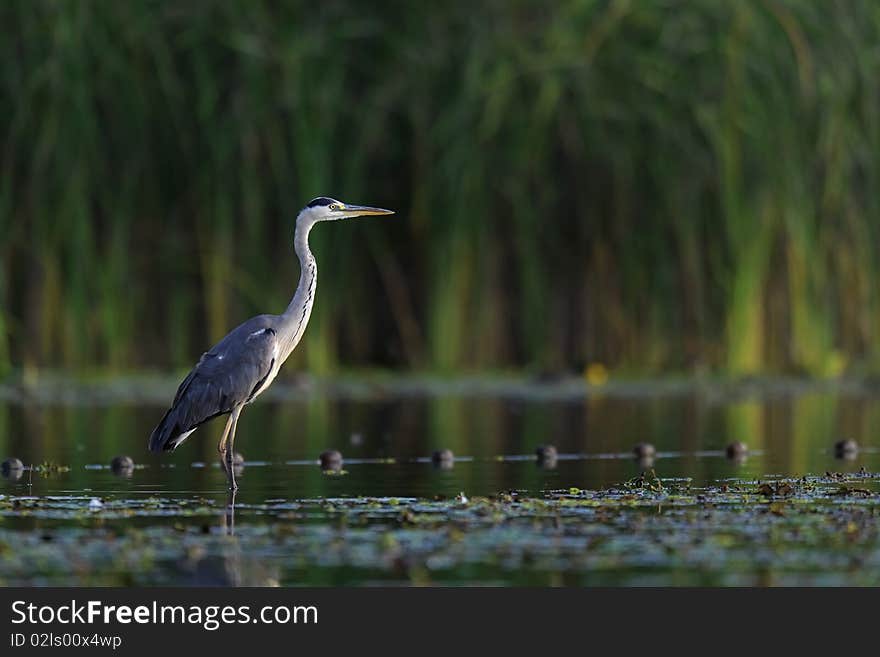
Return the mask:
{"type": "Polygon", "coordinates": [[[200,425],[254,396],[278,355],[275,330],[266,323],[249,320],[202,355],[150,436],[150,450],[174,449],[200,425]]]}

